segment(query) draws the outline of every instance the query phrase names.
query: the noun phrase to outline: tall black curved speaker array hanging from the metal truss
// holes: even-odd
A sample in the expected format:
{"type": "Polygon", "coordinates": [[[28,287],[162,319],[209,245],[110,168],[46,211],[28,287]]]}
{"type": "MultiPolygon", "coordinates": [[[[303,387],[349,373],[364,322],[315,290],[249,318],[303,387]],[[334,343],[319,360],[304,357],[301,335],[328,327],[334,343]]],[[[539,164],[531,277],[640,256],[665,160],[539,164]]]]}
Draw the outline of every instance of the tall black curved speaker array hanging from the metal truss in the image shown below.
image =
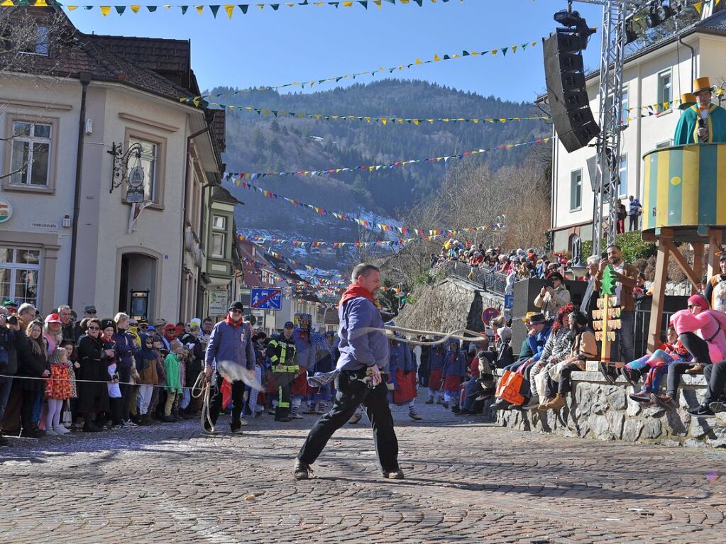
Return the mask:
{"type": "Polygon", "coordinates": [[[544,75],[552,122],[567,152],[587,145],[600,127],[587,97],[582,62],[586,41],[571,31],[558,31],[544,40],[544,75]]]}

